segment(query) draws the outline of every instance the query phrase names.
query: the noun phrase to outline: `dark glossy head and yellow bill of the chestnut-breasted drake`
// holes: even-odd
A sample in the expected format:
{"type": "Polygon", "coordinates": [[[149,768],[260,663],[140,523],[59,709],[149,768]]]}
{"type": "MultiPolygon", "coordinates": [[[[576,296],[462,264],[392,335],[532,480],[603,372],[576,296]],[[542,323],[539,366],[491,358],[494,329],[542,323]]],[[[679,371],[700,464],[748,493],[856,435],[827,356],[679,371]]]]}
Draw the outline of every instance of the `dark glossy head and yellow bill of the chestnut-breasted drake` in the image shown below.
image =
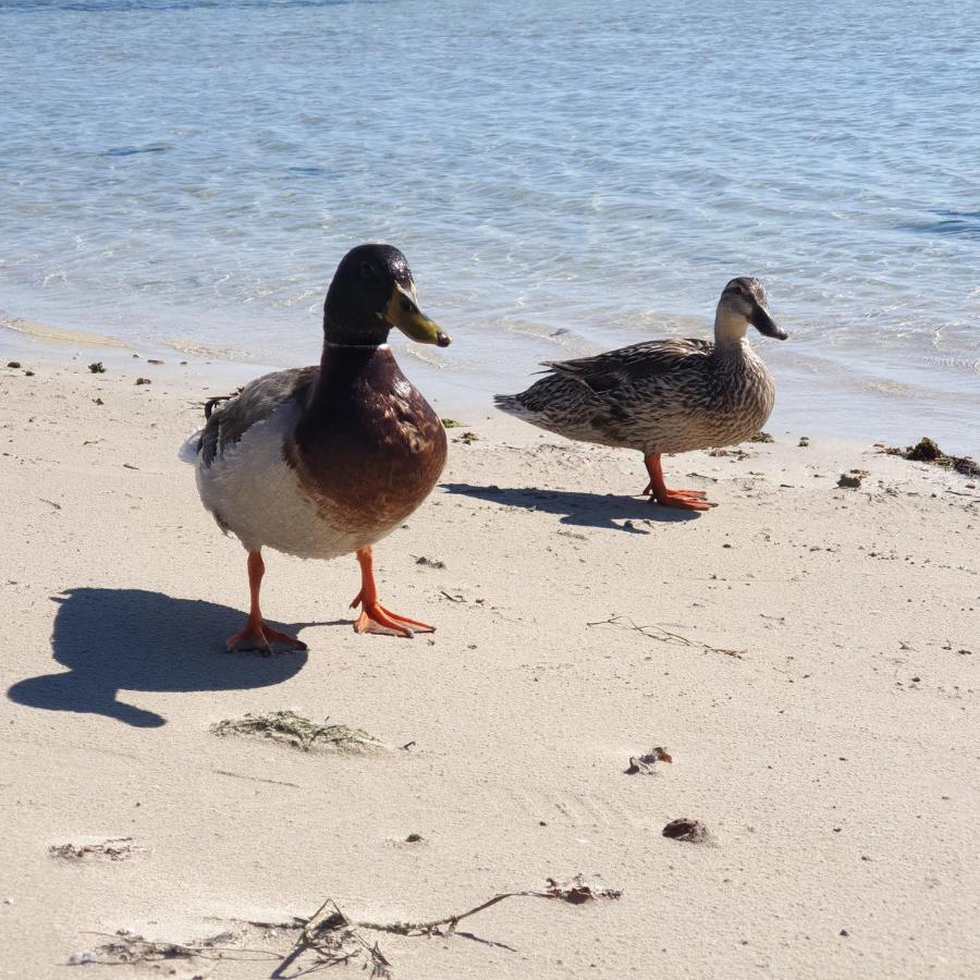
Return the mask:
{"type": "Polygon", "coordinates": [[[418,308],[408,260],[391,245],[358,245],[336,267],[323,304],[333,344],[383,344],[392,327],[420,344],[446,347],[449,334],[418,308]]]}

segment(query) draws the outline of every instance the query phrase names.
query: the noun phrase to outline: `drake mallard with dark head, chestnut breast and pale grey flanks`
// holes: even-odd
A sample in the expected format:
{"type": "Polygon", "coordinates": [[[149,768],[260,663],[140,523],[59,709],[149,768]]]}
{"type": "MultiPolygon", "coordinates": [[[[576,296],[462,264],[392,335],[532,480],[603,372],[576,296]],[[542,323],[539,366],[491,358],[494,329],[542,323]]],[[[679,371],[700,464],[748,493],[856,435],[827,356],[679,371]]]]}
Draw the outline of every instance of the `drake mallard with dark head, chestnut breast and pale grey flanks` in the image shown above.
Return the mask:
{"type": "Polygon", "coordinates": [[[236,395],[212,399],[205,427],[185,443],[205,507],[248,552],[252,603],[230,650],[271,642],[306,649],[262,618],[264,547],[304,559],[355,553],[358,633],[433,629],[381,605],[371,568],[371,547],[429,495],[446,451],[439,417],[388,346],[392,327],[419,343],[450,343],[419,310],[397,248],[353,248],[327,293],[319,366],[265,375],[236,395]]]}

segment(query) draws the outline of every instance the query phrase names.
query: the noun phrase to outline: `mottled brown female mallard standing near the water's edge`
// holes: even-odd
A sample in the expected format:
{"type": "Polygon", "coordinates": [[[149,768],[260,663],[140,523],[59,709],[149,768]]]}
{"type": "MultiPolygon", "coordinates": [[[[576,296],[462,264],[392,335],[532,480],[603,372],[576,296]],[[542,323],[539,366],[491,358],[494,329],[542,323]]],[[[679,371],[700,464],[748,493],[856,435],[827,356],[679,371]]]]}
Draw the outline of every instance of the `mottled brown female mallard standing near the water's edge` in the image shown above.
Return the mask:
{"type": "Polygon", "coordinates": [[[497,406],[568,439],[644,454],[644,493],[669,507],[707,511],[700,490],[669,490],[663,453],[733,445],[759,431],[775,399],[772,375],[745,339],[751,323],[785,340],[758,279],[733,279],[714,317],[714,343],[698,338],[646,341],[576,360],[546,360],[547,377],[497,406]]]}

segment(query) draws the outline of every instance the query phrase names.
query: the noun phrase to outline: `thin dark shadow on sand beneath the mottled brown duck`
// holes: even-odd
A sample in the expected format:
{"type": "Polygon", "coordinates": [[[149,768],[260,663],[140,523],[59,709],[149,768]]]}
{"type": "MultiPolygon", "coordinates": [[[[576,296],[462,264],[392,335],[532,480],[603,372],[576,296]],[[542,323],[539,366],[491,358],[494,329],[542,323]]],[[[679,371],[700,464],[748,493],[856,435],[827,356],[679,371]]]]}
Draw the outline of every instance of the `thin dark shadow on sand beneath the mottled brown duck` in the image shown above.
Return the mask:
{"type": "Polygon", "coordinates": [[[527,487],[498,487],[491,483],[477,487],[473,483],[442,483],[449,493],[463,497],[477,497],[493,503],[511,507],[524,507],[527,511],[543,511],[556,514],[562,524],[577,527],[602,527],[621,530],[630,535],[648,535],[649,531],[637,527],[634,520],[656,520],[658,523],[676,523],[696,520],[697,511],[678,511],[650,503],[649,498],[637,500],[635,497],[623,497],[617,493],[578,493],[574,490],[538,490],[527,487]],[[615,520],[626,522],[614,524],[615,520]]]}

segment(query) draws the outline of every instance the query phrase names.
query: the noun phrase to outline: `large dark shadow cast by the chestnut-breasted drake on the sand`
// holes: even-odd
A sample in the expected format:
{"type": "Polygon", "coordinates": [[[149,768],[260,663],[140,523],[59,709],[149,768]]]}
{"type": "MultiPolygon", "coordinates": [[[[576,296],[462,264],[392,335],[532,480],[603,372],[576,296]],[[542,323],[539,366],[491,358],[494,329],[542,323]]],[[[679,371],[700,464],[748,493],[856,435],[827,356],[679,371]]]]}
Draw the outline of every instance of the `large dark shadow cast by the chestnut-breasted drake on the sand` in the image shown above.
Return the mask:
{"type": "MultiPolygon", "coordinates": [[[[7,696],[19,705],[158,727],[167,719],[120,701],[118,693],[268,687],[293,677],[307,660],[298,651],[277,657],[225,652],[221,638],[241,628],[244,618],[228,605],[143,589],[70,589],[52,601],[59,609],[51,647],[69,670],[14,684],[7,696]]],[[[295,634],[314,625],[321,624],[284,628],[295,634]]]]}

